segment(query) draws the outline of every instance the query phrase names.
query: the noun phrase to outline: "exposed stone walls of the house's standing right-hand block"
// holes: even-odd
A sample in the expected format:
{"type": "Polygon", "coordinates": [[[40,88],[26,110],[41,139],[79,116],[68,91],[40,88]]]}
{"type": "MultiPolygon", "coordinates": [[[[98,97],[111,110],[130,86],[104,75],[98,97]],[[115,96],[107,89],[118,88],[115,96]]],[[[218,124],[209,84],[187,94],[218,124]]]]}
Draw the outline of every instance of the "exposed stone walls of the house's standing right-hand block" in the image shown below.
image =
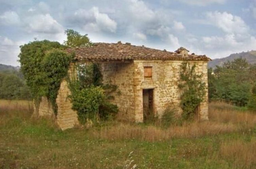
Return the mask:
{"type": "MultiPolygon", "coordinates": [[[[184,61],[135,60],[133,63],[102,63],[104,83],[118,86],[121,95],[115,95],[122,119],[143,121],[143,89],[153,89],[153,112],[162,116],[167,106],[182,113],[181,91],[178,87],[180,69],[184,61]],[[152,67],[152,79],[144,79],[144,66],[152,67]]],[[[206,96],[198,107],[199,119],[208,119],[207,61],[188,61],[196,64],[195,71],[202,74],[206,83],[206,96]]]]}

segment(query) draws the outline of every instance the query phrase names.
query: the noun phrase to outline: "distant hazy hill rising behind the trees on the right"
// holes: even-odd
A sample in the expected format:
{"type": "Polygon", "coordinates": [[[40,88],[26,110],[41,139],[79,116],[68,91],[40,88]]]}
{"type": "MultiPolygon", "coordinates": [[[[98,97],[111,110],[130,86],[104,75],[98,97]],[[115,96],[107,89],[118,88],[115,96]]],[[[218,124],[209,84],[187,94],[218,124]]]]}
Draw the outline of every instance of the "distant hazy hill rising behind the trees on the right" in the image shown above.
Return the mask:
{"type": "Polygon", "coordinates": [[[242,52],[242,53],[234,53],[231,54],[228,57],[220,58],[220,59],[214,59],[212,61],[209,61],[208,68],[215,68],[216,65],[222,66],[224,62],[227,62],[228,60],[232,61],[236,58],[245,58],[250,64],[256,63],[256,51],[250,51],[250,52],[242,52]]]}

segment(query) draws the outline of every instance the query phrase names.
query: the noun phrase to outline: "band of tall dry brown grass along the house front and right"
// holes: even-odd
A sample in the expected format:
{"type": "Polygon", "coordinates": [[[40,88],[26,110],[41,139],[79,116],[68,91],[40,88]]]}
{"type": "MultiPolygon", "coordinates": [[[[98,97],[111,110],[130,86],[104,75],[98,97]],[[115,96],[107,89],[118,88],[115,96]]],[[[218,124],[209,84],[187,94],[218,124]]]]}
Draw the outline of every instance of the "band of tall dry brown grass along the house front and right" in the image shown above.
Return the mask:
{"type": "Polygon", "coordinates": [[[193,138],[221,133],[244,132],[256,125],[256,115],[235,110],[224,103],[209,105],[209,121],[184,122],[171,125],[167,129],[155,125],[139,126],[136,124],[117,123],[92,129],[89,132],[98,139],[124,140],[139,139],[146,141],[168,140],[171,138],[193,138]]]}

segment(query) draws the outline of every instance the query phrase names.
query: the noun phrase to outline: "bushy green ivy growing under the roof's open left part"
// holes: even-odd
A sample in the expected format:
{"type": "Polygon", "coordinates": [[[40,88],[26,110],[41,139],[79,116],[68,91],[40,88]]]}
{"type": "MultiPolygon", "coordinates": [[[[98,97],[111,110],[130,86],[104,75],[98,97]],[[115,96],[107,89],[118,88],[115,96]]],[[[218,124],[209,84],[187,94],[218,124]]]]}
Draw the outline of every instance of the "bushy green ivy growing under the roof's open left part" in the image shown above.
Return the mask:
{"type": "Polygon", "coordinates": [[[77,111],[80,123],[87,119],[96,122],[106,120],[118,112],[118,107],[110,102],[117,87],[102,84],[102,74],[98,64],[78,64],[78,80],[70,82],[73,109],[77,111]]]}

